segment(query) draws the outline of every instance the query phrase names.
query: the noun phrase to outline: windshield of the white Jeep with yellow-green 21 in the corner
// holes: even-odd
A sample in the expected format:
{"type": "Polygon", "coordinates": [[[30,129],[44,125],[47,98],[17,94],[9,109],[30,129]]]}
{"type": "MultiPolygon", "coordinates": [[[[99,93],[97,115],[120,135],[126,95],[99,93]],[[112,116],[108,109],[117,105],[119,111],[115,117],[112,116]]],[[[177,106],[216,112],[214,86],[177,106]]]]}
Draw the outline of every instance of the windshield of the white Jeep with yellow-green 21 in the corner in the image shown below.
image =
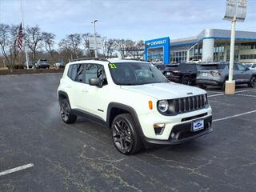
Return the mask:
{"type": "Polygon", "coordinates": [[[146,62],[117,62],[109,64],[110,74],[117,85],[143,85],[169,82],[154,65],[146,62]]]}

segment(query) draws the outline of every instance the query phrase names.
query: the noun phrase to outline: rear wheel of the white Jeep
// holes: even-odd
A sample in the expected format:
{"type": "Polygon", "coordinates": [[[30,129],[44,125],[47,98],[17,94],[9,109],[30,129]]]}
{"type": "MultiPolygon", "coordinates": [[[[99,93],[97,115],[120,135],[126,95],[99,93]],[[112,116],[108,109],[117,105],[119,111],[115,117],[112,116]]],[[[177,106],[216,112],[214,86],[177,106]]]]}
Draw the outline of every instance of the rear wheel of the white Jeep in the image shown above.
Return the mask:
{"type": "Polygon", "coordinates": [[[74,123],[77,120],[77,116],[71,113],[70,102],[68,99],[62,99],[59,104],[62,121],[66,122],[67,124],[74,123]]]}

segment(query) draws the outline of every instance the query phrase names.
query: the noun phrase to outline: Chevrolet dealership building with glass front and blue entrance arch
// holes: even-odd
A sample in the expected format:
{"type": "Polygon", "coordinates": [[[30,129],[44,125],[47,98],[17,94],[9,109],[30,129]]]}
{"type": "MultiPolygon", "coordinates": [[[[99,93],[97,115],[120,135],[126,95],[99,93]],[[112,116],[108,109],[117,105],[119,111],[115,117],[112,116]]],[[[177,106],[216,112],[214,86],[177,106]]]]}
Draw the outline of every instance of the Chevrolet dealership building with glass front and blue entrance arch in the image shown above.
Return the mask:
{"type": "MultiPolygon", "coordinates": [[[[145,42],[146,60],[167,63],[227,62],[230,59],[230,30],[206,29],[190,38],[158,38],[145,42]]],[[[256,63],[256,32],[236,31],[234,59],[256,63]]]]}

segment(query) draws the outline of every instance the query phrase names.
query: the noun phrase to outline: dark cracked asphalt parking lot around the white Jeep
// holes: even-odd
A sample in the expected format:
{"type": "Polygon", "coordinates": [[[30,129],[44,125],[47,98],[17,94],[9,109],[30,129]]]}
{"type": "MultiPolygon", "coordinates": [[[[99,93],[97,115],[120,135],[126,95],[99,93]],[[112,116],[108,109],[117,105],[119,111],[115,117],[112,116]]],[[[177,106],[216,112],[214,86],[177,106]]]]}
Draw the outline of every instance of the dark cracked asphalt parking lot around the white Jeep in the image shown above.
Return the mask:
{"type": "Polygon", "coordinates": [[[126,156],[110,130],[62,122],[60,78],[0,76],[0,191],[255,191],[256,89],[208,89],[212,134],[126,156]]]}

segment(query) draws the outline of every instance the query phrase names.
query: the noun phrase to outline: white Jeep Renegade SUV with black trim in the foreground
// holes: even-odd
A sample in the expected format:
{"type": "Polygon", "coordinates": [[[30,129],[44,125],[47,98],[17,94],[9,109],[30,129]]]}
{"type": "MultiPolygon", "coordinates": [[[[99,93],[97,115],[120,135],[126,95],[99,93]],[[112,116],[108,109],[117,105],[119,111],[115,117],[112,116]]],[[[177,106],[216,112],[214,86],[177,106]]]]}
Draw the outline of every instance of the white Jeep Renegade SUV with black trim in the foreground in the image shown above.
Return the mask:
{"type": "Polygon", "coordinates": [[[148,62],[87,58],[66,65],[58,87],[62,120],[82,114],[112,130],[114,146],[178,144],[212,131],[205,90],[169,82],[148,62]]]}

